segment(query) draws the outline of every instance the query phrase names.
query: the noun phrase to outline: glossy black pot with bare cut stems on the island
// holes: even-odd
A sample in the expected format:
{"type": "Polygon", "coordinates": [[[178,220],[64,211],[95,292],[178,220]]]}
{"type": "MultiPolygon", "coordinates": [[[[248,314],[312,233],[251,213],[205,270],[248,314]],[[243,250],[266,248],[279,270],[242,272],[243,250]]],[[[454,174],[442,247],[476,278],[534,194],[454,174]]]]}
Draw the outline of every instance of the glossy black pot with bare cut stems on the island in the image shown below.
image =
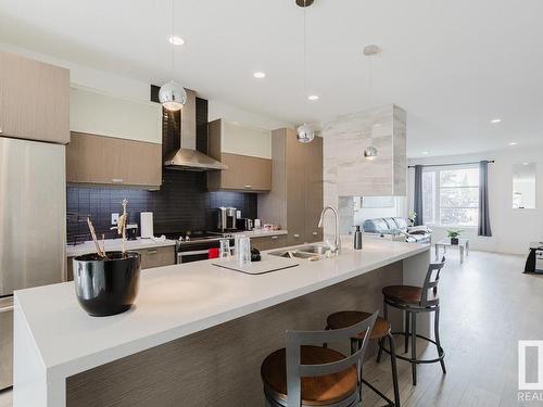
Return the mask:
{"type": "Polygon", "coordinates": [[[92,317],[106,317],[128,310],[138,295],[141,258],[137,252],[127,252],[127,201],[123,200],[123,215],[118,217],[117,232],[123,237],[121,252],[105,252],[97,239],[94,227],[87,218],[96,253],[74,258],[74,283],[80,306],[92,317]]]}

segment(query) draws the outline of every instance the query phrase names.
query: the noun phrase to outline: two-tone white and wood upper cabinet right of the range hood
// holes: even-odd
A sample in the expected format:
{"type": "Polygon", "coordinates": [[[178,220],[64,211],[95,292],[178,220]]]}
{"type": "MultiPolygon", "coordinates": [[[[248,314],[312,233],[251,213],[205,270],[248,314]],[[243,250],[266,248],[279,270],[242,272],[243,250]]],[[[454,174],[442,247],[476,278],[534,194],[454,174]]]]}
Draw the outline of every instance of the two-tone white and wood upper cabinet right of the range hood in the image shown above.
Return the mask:
{"type": "Polygon", "coordinates": [[[212,191],[267,192],[272,189],[270,132],[223,119],[209,125],[207,154],[228,169],[207,173],[212,191]]]}

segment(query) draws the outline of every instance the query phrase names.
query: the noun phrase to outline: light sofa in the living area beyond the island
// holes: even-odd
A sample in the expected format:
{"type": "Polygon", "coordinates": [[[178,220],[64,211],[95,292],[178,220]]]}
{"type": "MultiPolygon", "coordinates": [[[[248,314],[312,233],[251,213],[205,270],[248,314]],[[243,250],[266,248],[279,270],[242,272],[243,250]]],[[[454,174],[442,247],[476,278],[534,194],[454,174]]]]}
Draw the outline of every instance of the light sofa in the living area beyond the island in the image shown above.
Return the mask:
{"type": "Polygon", "coordinates": [[[367,219],[363,225],[364,232],[380,238],[390,238],[408,243],[430,243],[432,230],[427,226],[411,227],[402,217],[367,219]]]}

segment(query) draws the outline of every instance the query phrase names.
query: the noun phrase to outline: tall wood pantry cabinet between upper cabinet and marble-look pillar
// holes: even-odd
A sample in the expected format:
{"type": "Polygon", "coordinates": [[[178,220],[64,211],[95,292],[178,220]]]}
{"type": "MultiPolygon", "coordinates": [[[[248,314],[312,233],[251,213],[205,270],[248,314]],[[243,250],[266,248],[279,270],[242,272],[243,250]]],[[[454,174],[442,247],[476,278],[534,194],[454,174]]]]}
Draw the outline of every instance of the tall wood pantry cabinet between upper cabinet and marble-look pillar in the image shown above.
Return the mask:
{"type": "Polygon", "coordinates": [[[323,240],[323,139],[300,143],[295,130],[273,132],[272,191],[258,196],[258,217],[288,229],[288,244],[323,240]]]}

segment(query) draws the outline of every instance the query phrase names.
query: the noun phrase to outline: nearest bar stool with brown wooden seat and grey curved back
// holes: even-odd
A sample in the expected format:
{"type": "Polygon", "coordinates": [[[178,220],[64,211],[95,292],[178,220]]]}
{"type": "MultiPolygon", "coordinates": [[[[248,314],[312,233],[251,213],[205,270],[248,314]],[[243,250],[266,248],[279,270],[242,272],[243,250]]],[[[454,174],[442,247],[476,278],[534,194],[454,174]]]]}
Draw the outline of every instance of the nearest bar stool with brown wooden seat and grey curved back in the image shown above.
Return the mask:
{"type": "Polygon", "coordinates": [[[268,355],[261,367],[266,406],[358,406],[359,371],[369,334],[362,338],[362,345],[350,356],[315,345],[369,332],[376,318],[377,313],[337,331],[287,331],[287,347],[268,355]]]}

